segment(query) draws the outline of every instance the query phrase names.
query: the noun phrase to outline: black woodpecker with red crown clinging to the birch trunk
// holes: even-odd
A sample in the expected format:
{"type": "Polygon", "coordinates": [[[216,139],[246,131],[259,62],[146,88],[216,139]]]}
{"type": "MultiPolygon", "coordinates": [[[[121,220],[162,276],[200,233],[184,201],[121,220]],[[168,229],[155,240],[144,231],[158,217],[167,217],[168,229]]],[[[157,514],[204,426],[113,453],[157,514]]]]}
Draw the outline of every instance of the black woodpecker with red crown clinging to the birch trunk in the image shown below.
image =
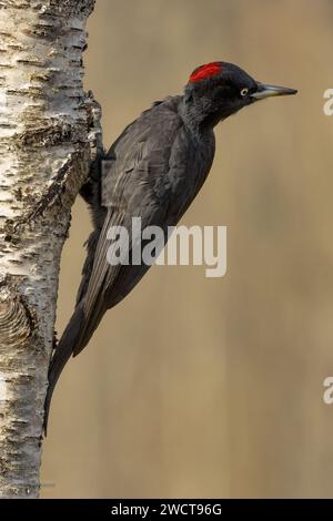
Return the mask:
{"type": "MultiPolygon", "coordinates": [[[[142,228],[155,225],[167,231],[176,225],[211,170],[218,123],[260,100],[296,92],[259,82],[229,62],[205,63],[190,74],[181,95],[153,103],[129,124],[92,170],[80,193],[90,206],[93,232],[75,308],[50,361],[46,435],[51,397],[64,365],[88,345],[105,311],[149,269],[144,264],[108,262],[110,227],[130,229],[133,217],[141,218],[142,228]]],[[[132,243],[130,237],[129,251],[132,243]]]]}

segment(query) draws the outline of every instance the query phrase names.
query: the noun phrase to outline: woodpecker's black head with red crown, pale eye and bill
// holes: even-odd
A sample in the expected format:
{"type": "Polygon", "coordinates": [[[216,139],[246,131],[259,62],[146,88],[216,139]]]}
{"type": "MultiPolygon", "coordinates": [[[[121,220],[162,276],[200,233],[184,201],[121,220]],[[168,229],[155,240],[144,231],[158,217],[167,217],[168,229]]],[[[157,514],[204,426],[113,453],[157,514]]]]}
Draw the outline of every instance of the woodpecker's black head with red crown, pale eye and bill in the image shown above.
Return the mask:
{"type": "Polygon", "coordinates": [[[185,86],[184,101],[188,106],[192,105],[192,113],[198,111],[202,122],[215,125],[259,100],[296,92],[255,81],[232,63],[211,62],[192,72],[185,86]]]}

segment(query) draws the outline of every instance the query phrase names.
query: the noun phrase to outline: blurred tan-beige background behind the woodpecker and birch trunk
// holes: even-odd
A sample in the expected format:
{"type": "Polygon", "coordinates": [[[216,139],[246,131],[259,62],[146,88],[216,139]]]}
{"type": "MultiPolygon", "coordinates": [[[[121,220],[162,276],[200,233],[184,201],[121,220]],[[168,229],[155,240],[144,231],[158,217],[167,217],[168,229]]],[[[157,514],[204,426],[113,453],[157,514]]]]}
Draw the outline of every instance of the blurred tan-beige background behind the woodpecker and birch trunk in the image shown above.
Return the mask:
{"type": "MultiPolygon", "coordinates": [[[[98,0],[88,30],[107,147],[209,61],[300,93],[216,127],[182,222],[228,226],[228,273],[153,267],[109,311],[54,394],[42,497],[332,497],[332,1],[98,0]]],[[[90,229],[78,200],[59,334],[90,229]]]]}

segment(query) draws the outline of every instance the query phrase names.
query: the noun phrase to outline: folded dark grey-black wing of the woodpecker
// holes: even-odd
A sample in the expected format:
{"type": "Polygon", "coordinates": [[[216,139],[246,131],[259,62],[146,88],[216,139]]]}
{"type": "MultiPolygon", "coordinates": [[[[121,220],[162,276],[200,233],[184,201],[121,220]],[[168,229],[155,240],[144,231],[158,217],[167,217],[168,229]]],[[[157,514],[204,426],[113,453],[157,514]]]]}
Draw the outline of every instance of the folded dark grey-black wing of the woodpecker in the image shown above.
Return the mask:
{"type": "Polygon", "coordinates": [[[87,289],[80,299],[84,325],[80,341],[73,346],[73,355],[88,344],[105,310],[128,295],[148,269],[145,265],[110,265],[108,232],[111,227],[127,228],[131,251],[133,217],[141,218],[142,228],[163,226],[168,221],[173,188],[171,172],[180,166],[171,164],[170,160],[174,155],[173,149],[178,147],[181,131],[182,121],[178,113],[159,104],[130,125],[108,154],[101,193],[107,215],[98,243],[93,245],[95,253],[91,270],[85,274],[87,289]]]}

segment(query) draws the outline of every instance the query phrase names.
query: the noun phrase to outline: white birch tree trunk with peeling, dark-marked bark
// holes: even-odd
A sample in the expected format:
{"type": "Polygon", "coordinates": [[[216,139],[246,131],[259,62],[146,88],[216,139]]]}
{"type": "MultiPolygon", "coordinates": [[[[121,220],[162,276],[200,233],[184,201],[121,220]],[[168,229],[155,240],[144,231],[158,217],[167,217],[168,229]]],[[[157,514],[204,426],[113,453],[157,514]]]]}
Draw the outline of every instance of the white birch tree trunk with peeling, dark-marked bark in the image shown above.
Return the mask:
{"type": "Polygon", "coordinates": [[[0,497],[36,498],[61,249],[100,137],[94,0],[0,0],[0,497]]]}

